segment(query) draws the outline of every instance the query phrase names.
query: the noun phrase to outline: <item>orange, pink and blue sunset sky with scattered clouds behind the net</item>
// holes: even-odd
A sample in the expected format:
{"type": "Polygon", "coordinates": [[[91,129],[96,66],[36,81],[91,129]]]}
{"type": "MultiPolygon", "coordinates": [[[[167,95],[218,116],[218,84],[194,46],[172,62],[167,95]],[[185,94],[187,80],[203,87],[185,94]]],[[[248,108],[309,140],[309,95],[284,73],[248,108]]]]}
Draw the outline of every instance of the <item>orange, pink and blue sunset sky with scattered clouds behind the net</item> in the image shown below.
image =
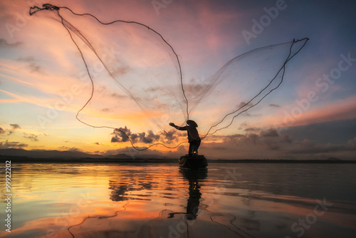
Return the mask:
{"type": "MultiPolygon", "coordinates": [[[[185,143],[176,149],[157,145],[137,152],[110,129],[127,131],[140,148],[152,143],[175,146],[185,140],[184,134],[169,138],[160,131],[163,126],[169,130],[169,122],[182,124],[185,110],[179,104],[177,61],[167,58],[167,53],[172,56],[167,45],[159,45],[162,41],[150,38],[147,30],[98,27],[83,18],[71,19],[61,9],[63,17],[88,36],[95,51],[106,56],[109,71],[122,76],[120,82],[112,81],[102,78],[100,71],[97,81],[94,78],[93,100],[79,115],[85,123],[110,128],[91,128],[75,118],[90,97],[90,81],[68,31],[51,19],[54,14],[29,16],[30,6],[46,3],[93,14],[103,22],[137,21],[155,29],[177,53],[188,95],[189,90],[199,91],[231,58],[294,38],[310,38],[288,63],[282,85],[229,128],[204,138],[199,153],[221,159],[355,160],[356,3],[351,0],[0,0],[0,149],[169,157],[187,150],[185,143]]],[[[89,51],[84,54],[92,72],[103,68],[89,51]]],[[[236,108],[229,103],[242,102],[253,92],[252,72],[258,71],[260,58],[270,56],[258,51],[248,59],[252,66],[236,66],[241,77],[230,86],[221,84],[226,89],[219,92],[221,97],[211,93],[199,104],[188,97],[191,105],[197,105],[190,108],[189,118],[197,121],[200,132],[218,120],[216,115],[236,108]]],[[[268,63],[261,68],[263,75],[271,71],[268,63]]]]}

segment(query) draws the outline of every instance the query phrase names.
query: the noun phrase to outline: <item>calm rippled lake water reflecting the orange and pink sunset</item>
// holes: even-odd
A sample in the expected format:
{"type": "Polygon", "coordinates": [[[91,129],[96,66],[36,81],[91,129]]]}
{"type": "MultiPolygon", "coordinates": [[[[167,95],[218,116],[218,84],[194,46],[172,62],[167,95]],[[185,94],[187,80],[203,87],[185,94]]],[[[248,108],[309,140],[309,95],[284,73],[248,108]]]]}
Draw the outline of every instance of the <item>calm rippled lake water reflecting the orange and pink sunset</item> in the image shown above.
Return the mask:
{"type": "Polygon", "coordinates": [[[13,162],[11,233],[2,189],[0,237],[353,238],[355,171],[355,164],[210,163],[192,172],[176,163],[13,162]]]}

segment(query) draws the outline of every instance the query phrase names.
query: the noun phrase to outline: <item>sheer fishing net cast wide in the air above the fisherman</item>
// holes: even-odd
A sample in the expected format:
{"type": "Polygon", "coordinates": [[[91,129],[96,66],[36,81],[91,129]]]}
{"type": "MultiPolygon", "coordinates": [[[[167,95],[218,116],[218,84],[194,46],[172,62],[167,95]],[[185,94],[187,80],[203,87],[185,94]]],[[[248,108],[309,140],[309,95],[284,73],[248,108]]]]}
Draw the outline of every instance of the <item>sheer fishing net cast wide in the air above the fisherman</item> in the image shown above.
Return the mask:
{"type": "Polygon", "coordinates": [[[30,14],[38,11],[62,24],[85,64],[91,93],[76,118],[93,128],[114,130],[112,142],[129,141],[136,150],[153,145],[177,148],[182,143],[168,123],[179,120],[183,125],[192,114],[199,117],[194,119],[201,122],[202,138],[228,128],[234,118],[281,85],[286,63],[308,41],[304,38],[249,51],[233,58],[206,81],[187,83],[174,48],[145,24],[122,20],[103,23],[91,14],[75,14],[51,4],[31,7],[30,14]],[[105,108],[99,102],[105,102],[105,108]],[[98,113],[90,117],[90,110],[98,113]],[[117,111],[121,119],[115,124],[125,123],[129,128],[108,126],[112,122],[98,116],[117,118],[117,111]],[[80,115],[85,115],[85,120],[80,115]],[[122,119],[123,115],[130,121],[122,119]],[[135,126],[148,133],[131,133],[135,126]],[[148,146],[138,148],[135,143],[148,146]]]}

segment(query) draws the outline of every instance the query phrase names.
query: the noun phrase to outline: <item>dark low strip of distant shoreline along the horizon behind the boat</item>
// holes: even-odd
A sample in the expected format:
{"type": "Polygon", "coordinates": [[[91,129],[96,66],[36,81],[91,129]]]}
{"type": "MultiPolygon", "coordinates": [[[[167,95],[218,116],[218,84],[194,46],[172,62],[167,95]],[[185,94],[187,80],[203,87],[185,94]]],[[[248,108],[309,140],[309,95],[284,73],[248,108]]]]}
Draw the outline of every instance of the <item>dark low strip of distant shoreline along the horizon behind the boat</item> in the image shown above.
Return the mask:
{"type": "MultiPolygon", "coordinates": [[[[91,157],[53,157],[34,158],[25,156],[1,155],[1,160],[13,160],[12,163],[137,163],[137,162],[174,162],[169,158],[91,158],[91,157]]],[[[356,164],[356,160],[208,160],[209,163],[298,163],[298,164],[356,164]]]]}

